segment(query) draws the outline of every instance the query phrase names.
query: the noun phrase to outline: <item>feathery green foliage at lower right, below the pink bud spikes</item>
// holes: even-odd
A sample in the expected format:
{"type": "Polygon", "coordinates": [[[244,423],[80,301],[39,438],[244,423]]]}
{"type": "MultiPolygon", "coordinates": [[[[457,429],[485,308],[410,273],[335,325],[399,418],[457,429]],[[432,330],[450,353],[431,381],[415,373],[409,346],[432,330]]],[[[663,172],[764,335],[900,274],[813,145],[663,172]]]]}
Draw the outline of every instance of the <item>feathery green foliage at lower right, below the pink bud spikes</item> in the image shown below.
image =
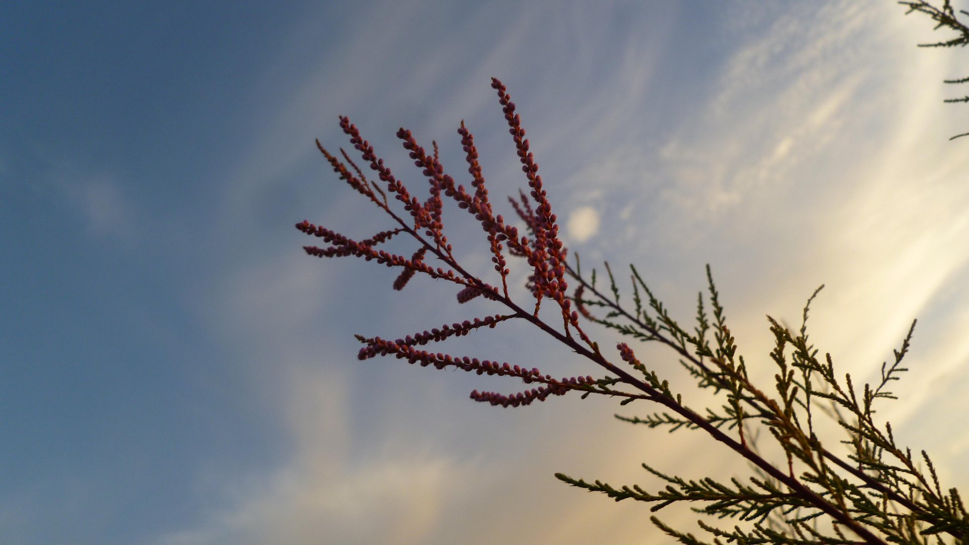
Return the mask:
{"type": "Polygon", "coordinates": [[[591,294],[577,299],[578,305],[608,309],[606,318],[593,319],[611,330],[642,343],[672,348],[697,386],[712,391],[722,402],[719,409],[706,408],[702,420],[695,413],[670,410],[616,417],[650,428],[668,427],[670,432],[709,428],[731,431],[735,441],[725,442],[752,463],[754,474],[747,482],[737,478],[720,482],[708,477],[686,480],[643,465],[667,481],[667,486],[657,492],[639,485],[616,487],[599,480],[589,483],[563,473],[556,473],[556,477],[613,500],[650,502],[652,511],[686,501],[698,513],[736,521],[732,528],[701,521],[701,527],[713,536],[708,542],[653,519],[683,543],[966,542],[969,518],[958,492],[943,492],[928,455],[922,452],[921,459],[914,458],[909,449],[895,442],[891,424],[881,424],[874,418],[880,400],[896,399],[889,386],[907,371],[901,364],[915,322],[901,348],[893,350],[891,363],[883,363],[881,379],[857,387],[851,375],[842,377],[835,371],[830,354],[820,357],[809,340],[807,318],[811,302],[821,291],[818,288],[804,306],[797,331],[767,318],[774,339],[769,355],[775,375],[772,387],[764,388],[752,381],[738,354],[709,267],[707,294],[698,297],[692,332],[670,316],[635,267],[632,271],[632,309],[620,304],[620,289],[611,273],[610,289],[604,292],[593,288],[577,271],[574,278],[582,293],[591,294]],[[645,294],[645,305],[640,293],[645,294]],[[819,438],[815,433],[819,415],[833,418],[848,439],[832,445],[831,439],[819,438]],[[766,430],[783,449],[786,460],[782,466],[765,465],[755,441],[746,439],[760,430],[766,430]],[[782,477],[766,466],[780,469],[782,477]],[[695,506],[697,503],[703,506],[695,506]]]}

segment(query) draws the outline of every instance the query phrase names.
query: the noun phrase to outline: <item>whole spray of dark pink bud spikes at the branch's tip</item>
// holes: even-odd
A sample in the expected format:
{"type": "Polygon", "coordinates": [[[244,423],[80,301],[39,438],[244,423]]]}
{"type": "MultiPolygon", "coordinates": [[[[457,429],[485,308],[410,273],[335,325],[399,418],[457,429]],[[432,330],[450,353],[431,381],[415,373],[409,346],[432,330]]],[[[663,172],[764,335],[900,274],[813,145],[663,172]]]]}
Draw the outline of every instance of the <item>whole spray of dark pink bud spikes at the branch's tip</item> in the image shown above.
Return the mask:
{"type": "MultiPolygon", "coordinates": [[[[551,212],[551,204],[548,202],[542,178],[538,174],[539,167],[530,151],[529,141],[524,137],[525,130],[521,128],[520,116],[516,113],[516,106],[511,102],[507,89],[501,81],[492,79],[491,85],[498,92],[498,99],[505,113],[509,132],[515,140],[521,169],[528,179],[529,195],[535,203],[533,208],[530,199],[524,193],[521,193],[520,203],[514,200],[512,202],[518,216],[524,221],[527,230],[532,235],[531,240],[528,236],[519,235],[516,227],[506,224],[505,219],[500,214],[494,213],[485,188],[485,176],[478,161],[479,154],[475,147],[474,136],[465,127],[463,121],[457,133],[461,136],[461,145],[465,154],[464,159],[468,165],[468,173],[471,175],[473,192],[469,192],[463,185],[457,184],[453,177],[445,172],[438,157],[436,143],[433,153],[428,154],[418,144],[410,131],[403,128],[397,131],[396,136],[402,140],[402,145],[408,151],[410,159],[414,161],[415,166],[422,169],[422,174],[427,179],[429,196],[425,200],[421,200],[413,196],[407,187],[391,173],[390,167],[385,166],[384,161],[377,157],[370,142],[360,136],[357,126],[352,124],[349,118],[341,116],[341,129],[346,135],[350,136],[350,143],[359,151],[364,164],[375,170],[380,181],[386,184],[386,193],[379,185],[366,179],[360,168],[354,164],[344,150],[341,149],[340,154],[345,163],[330,154],[320,145],[319,141],[317,141],[317,146],[327,158],[333,170],[339,174],[340,179],[345,180],[361,195],[368,197],[387,213],[399,227],[382,230],[364,240],[355,240],[326,227],[303,221],[296,225],[297,229],[307,235],[322,238],[329,245],[325,248],[304,246],[303,249],[310,256],[354,256],[362,257],[367,261],[376,260],[378,263],[390,267],[401,267],[403,270],[393,282],[394,289],[404,288],[416,274],[422,273],[431,278],[443,279],[459,286],[460,290],[457,293],[459,303],[465,303],[478,296],[483,296],[486,299],[504,304],[514,311],[510,315],[494,315],[455,322],[452,325],[445,324],[439,328],[408,335],[395,341],[380,337],[364,338],[358,336],[359,341],[364,345],[359,351],[359,359],[361,360],[378,355],[392,354],[397,358],[406,359],[408,363],[420,363],[424,367],[434,366],[437,369],[444,369],[450,366],[468,372],[473,371],[479,375],[498,375],[519,378],[525,383],[542,383],[539,387],[511,395],[479,392],[477,390],[471,394],[472,399],[502,407],[528,405],[535,400],[544,401],[549,395],[562,395],[573,389],[620,394],[611,391],[607,387],[608,384],[599,383],[592,377],[554,379],[551,376],[542,375],[538,369],[526,370],[508,363],[479,360],[466,356],[457,357],[419,348],[431,342],[441,342],[450,337],[467,335],[481,327],[493,328],[498,323],[511,318],[525,318],[546,330],[551,330],[551,327],[539,318],[539,310],[544,298],[550,298],[558,304],[564,326],[561,334],[564,334],[565,338],[571,342],[570,330],[575,330],[578,331],[579,337],[589,348],[595,348],[595,345],[579,327],[578,312],[571,310],[572,300],[566,295],[568,288],[568,283],[565,280],[567,272],[566,249],[558,236],[557,219],[555,214],[551,212]],[[391,209],[391,203],[388,202],[388,196],[391,195],[403,203],[404,210],[410,215],[407,221],[391,209]],[[494,270],[501,278],[500,288],[491,286],[465,270],[453,256],[452,245],[444,233],[443,197],[453,198],[458,208],[471,214],[485,230],[491,252],[491,262],[494,270]],[[411,257],[404,257],[377,248],[401,233],[410,235],[411,239],[418,242],[418,249],[411,257]],[[528,286],[535,297],[533,312],[522,310],[509,296],[507,279],[511,271],[505,257],[506,246],[511,255],[523,257],[531,266],[532,274],[528,286]],[[425,262],[428,257],[443,261],[445,266],[431,267],[425,262]],[[596,387],[593,388],[593,386],[596,387]]],[[[576,345],[576,348],[578,348],[578,345],[576,345]]],[[[595,349],[598,350],[598,348],[595,349]]]]}

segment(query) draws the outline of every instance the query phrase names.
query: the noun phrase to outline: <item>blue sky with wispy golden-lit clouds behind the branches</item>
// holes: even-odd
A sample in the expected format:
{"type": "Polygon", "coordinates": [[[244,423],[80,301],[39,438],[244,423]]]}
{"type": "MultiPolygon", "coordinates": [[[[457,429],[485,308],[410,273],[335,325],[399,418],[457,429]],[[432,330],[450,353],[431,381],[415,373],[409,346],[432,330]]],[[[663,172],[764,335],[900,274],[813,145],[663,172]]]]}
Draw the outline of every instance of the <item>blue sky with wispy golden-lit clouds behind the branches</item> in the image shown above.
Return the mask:
{"type": "MultiPolygon", "coordinates": [[[[515,195],[526,181],[492,76],[583,268],[637,264],[688,321],[709,263],[754,373],[772,373],[765,316],[797,324],[822,284],[812,338],[859,380],[919,318],[882,414],[964,489],[969,141],[948,138],[969,107],[943,104],[964,89],[942,80],[969,65],[916,47],[946,35],[903,13],[875,0],[5,3],[0,541],[655,543],[646,506],[553,473],[749,474],[702,435],[612,417],[647,406],[492,408],[469,392],[516,384],[357,360],[354,334],[499,311],[305,256],[302,220],[359,238],[389,227],[314,139],[347,146],[337,116],[350,116],[417,193],[397,128],[436,140],[461,178],[463,119],[491,195],[515,195]]],[[[486,274],[469,220],[449,210],[445,225],[486,274]]],[[[517,323],[449,347],[596,374],[517,323]]],[[[671,354],[643,353],[686,383],[671,354]]]]}

